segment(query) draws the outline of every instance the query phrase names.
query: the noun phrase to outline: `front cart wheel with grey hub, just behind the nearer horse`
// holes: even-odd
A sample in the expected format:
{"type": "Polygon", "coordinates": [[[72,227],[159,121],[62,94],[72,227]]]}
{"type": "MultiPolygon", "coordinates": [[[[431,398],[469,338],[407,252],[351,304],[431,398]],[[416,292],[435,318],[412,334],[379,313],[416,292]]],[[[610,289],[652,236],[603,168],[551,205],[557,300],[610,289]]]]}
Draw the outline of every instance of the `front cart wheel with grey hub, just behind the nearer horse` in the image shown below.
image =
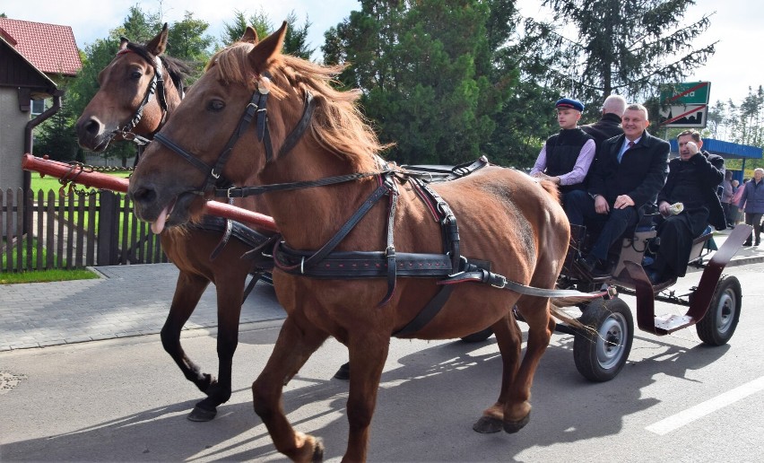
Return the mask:
{"type": "Polygon", "coordinates": [[[590,381],[612,380],[631,351],[634,319],[629,306],[619,298],[598,299],[586,306],[579,321],[597,333],[577,330],[573,359],[578,372],[590,381]]]}

